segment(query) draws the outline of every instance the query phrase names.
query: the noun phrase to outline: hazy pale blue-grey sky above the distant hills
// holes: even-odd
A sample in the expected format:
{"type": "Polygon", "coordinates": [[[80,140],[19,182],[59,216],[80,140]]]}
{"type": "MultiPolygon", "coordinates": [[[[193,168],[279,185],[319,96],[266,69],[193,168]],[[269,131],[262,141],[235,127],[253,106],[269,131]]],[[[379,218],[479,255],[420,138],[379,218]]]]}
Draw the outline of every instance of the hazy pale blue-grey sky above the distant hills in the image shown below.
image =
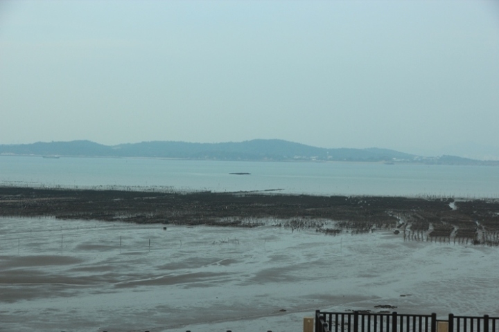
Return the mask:
{"type": "Polygon", "coordinates": [[[499,2],[0,2],[0,144],[255,138],[499,158],[499,2]]]}

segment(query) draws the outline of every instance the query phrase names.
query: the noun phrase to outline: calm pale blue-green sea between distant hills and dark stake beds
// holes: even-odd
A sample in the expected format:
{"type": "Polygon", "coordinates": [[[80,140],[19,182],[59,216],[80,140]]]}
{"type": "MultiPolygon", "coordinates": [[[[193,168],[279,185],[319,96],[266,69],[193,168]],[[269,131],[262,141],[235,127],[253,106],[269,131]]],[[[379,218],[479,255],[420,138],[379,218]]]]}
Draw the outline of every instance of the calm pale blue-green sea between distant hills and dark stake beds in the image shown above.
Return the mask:
{"type": "Polygon", "coordinates": [[[0,156],[0,185],[498,198],[499,167],[0,156]]]}

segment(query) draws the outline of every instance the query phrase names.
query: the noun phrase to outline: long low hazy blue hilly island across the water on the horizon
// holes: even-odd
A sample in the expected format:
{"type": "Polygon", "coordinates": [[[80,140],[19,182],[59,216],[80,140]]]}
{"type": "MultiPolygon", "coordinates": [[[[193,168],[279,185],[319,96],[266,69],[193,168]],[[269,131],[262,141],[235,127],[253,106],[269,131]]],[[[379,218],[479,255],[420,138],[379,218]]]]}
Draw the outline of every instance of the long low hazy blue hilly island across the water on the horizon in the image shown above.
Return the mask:
{"type": "Polygon", "coordinates": [[[191,143],[153,141],[120,145],[101,145],[89,140],[36,142],[0,145],[0,156],[59,157],[137,157],[190,160],[371,162],[393,165],[499,165],[498,160],[474,160],[457,156],[417,156],[391,149],[325,149],[286,140],[247,140],[244,142],[191,143]]]}

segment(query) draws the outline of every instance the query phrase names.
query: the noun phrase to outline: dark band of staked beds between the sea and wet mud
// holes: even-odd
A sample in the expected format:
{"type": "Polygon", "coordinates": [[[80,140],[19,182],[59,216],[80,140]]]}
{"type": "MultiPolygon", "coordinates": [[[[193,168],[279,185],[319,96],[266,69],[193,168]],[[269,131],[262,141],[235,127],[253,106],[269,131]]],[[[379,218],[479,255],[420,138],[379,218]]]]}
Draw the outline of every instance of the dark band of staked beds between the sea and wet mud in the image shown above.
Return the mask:
{"type": "Polygon", "coordinates": [[[498,199],[0,187],[0,216],[241,227],[270,220],[325,234],[390,229],[412,240],[499,244],[498,199]]]}

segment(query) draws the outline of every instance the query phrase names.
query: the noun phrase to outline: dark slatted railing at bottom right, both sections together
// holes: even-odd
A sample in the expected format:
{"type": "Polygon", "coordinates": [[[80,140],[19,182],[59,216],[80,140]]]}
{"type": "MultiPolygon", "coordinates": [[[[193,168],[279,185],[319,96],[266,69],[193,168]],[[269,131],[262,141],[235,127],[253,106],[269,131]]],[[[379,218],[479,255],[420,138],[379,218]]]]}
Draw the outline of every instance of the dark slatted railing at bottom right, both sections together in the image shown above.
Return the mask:
{"type": "MultiPolygon", "coordinates": [[[[499,317],[448,315],[448,321],[437,315],[399,313],[315,312],[315,332],[437,332],[437,324],[446,322],[446,332],[499,332],[499,317]]],[[[440,331],[441,332],[441,331],[440,331]]]]}

